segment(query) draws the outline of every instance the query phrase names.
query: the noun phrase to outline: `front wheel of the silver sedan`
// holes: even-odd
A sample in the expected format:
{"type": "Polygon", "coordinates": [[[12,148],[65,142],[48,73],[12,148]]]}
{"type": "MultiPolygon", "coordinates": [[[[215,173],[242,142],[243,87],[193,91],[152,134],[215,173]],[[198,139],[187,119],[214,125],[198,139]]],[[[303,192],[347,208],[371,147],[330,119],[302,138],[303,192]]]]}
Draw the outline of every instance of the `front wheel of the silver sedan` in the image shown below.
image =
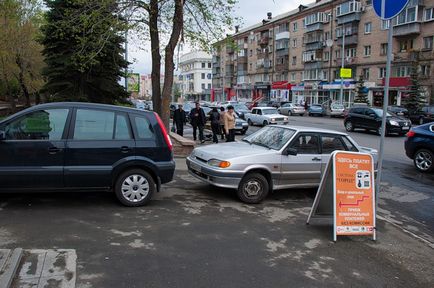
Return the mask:
{"type": "Polygon", "coordinates": [[[264,175],[249,173],[241,180],[237,196],[244,203],[258,204],[267,197],[269,187],[270,185],[264,175]]]}

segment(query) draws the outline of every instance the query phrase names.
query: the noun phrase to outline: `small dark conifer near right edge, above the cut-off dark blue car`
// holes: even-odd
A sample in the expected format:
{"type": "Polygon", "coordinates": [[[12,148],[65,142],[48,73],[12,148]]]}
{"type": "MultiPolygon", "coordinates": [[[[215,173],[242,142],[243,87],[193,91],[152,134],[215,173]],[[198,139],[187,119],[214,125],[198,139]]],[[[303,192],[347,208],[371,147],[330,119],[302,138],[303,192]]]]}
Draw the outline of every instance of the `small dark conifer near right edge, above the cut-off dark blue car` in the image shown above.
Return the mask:
{"type": "Polygon", "coordinates": [[[415,61],[411,69],[410,86],[408,87],[407,96],[403,97],[402,100],[404,107],[407,108],[410,113],[426,105],[425,91],[420,85],[418,69],[419,61],[415,61]]]}

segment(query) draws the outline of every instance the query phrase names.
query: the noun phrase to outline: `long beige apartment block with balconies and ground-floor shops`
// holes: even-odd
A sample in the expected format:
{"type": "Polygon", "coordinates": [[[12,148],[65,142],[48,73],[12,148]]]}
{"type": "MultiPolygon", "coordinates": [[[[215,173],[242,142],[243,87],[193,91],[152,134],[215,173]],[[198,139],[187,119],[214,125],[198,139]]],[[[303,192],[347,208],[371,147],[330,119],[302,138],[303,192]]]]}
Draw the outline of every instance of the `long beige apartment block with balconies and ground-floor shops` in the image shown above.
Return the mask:
{"type": "Polygon", "coordinates": [[[271,16],[216,43],[215,100],[313,104],[342,98],[349,105],[361,76],[371,104],[381,106],[390,25],[390,103],[399,105],[406,97],[415,65],[427,98],[434,94],[434,0],[410,0],[391,23],[376,16],[371,0],[317,0],[271,16]],[[352,70],[352,78],[340,78],[342,66],[352,70]]]}

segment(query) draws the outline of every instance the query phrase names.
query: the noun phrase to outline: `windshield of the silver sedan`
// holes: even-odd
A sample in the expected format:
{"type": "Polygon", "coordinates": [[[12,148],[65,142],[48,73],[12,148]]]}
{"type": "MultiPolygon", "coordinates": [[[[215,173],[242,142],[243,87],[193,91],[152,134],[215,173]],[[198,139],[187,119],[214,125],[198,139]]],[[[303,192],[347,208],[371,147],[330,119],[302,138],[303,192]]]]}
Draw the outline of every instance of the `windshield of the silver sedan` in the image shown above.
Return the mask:
{"type": "Polygon", "coordinates": [[[267,126],[243,139],[253,145],[280,150],[288,143],[295,131],[288,128],[267,126]]]}

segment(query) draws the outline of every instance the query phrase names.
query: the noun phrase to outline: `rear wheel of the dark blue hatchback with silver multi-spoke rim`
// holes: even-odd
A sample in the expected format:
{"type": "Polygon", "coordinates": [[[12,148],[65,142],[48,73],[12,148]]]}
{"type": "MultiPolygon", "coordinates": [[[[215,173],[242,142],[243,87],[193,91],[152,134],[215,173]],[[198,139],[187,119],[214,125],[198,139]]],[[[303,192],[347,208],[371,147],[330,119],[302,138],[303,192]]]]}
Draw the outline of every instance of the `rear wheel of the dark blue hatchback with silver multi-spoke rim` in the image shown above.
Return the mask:
{"type": "Polygon", "coordinates": [[[148,172],[131,169],[119,175],[114,192],[123,205],[138,207],[151,200],[156,190],[155,186],[155,181],[148,172]]]}

